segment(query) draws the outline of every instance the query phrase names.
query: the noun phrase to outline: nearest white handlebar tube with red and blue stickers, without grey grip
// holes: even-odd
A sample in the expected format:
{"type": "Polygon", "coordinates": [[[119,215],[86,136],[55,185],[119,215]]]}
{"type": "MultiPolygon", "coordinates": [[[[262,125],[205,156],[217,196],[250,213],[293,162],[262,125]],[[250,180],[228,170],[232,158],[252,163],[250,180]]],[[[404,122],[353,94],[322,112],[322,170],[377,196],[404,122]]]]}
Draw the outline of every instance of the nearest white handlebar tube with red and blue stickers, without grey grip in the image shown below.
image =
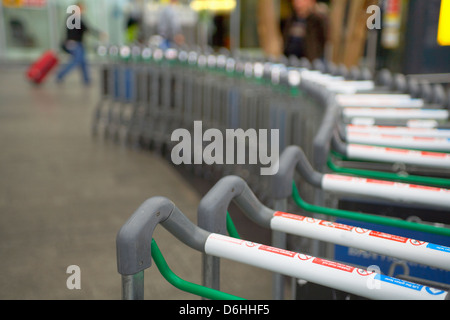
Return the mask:
{"type": "Polygon", "coordinates": [[[214,233],[205,243],[205,252],[369,299],[444,300],[448,294],[338,262],[214,233]]]}

